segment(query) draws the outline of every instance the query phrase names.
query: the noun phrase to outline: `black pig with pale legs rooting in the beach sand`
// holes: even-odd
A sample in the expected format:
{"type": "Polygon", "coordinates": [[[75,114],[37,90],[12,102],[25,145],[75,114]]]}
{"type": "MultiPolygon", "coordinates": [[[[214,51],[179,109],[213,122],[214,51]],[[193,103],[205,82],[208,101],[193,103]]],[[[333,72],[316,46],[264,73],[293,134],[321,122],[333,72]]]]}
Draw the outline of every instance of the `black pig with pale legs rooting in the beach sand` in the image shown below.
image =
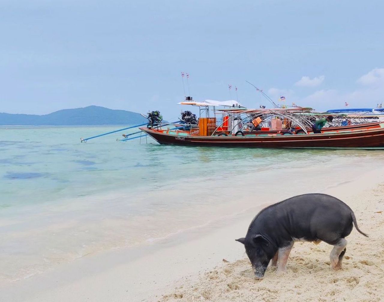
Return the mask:
{"type": "Polygon", "coordinates": [[[333,245],[331,267],[341,269],[347,240],[356,217],[348,205],[326,194],[304,194],[278,202],[261,210],[252,220],[245,238],[236,239],[245,246],[256,277],[264,276],[266,267],[278,265],[284,272],[288,256],[297,240],[324,241],[333,245]]]}

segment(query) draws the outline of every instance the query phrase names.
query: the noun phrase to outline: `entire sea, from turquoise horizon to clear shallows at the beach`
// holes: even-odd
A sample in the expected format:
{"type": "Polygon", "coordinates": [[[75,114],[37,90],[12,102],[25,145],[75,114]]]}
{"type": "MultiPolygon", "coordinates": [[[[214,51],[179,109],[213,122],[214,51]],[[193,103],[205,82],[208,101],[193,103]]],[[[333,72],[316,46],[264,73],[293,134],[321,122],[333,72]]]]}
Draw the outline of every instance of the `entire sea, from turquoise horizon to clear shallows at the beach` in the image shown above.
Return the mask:
{"type": "Polygon", "coordinates": [[[103,250],[172,240],[384,164],[382,151],[116,141],[124,131],[80,142],[117,128],[0,127],[0,281],[103,250]]]}

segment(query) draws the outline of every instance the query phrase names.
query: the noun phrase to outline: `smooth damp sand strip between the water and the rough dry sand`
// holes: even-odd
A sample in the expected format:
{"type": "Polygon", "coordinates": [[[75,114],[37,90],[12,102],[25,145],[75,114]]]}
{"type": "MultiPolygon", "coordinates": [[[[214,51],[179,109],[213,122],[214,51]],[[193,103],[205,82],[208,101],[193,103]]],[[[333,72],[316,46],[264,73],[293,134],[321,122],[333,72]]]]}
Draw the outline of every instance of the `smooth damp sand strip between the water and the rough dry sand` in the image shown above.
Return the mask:
{"type": "MultiPolygon", "coordinates": [[[[334,195],[351,205],[346,200],[348,196],[375,188],[382,182],[383,176],[384,169],[379,168],[359,175],[352,181],[328,187],[322,193],[334,195]]],[[[258,210],[265,205],[257,207],[258,210]]],[[[359,211],[354,207],[352,209],[359,227],[367,231],[359,211]]],[[[172,292],[175,284],[197,282],[202,273],[221,264],[222,259],[230,261],[230,264],[236,260],[244,261],[238,260],[244,259],[245,252],[234,239],[245,235],[257,212],[244,210],[242,215],[236,215],[229,222],[215,222],[214,225],[194,228],[160,239],[143,249],[119,249],[84,256],[50,272],[7,284],[1,289],[2,296],[7,301],[171,299],[162,298],[162,294],[172,292]]]]}

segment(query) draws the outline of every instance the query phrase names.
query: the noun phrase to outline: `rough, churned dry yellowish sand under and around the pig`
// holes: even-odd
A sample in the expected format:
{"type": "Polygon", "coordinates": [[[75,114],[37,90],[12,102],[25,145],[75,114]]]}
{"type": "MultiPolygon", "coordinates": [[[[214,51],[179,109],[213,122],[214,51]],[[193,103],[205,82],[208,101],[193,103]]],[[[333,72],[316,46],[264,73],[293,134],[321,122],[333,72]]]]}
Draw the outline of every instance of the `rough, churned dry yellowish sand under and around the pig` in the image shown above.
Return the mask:
{"type": "Polygon", "coordinates": [[[264,279],[255,279],[244,255],[199,275],[195,282],[179,282],[159,301],[381,301],[384,184],[351,195],[346,202],[370,237],[363,237],[356,229],[347,237],[342,270],[330,269],[330,245],[297,242],[283,275],[276,274],[275,267],[268,267],[264,279]]]}

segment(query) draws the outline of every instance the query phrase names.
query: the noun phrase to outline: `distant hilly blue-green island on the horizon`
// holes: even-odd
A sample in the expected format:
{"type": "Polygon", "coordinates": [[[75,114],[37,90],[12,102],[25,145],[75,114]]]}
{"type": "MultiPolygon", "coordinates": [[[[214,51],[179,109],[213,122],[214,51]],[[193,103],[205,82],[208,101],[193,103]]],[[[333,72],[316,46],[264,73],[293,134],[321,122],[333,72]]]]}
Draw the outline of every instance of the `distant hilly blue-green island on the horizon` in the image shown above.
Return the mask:
{"type": "Polygon", "coordinates": [[[0,113],[0,125],[132,125],[147,122],[139,113],[99,106],[63,109],[45,115],[0,113]]]}

